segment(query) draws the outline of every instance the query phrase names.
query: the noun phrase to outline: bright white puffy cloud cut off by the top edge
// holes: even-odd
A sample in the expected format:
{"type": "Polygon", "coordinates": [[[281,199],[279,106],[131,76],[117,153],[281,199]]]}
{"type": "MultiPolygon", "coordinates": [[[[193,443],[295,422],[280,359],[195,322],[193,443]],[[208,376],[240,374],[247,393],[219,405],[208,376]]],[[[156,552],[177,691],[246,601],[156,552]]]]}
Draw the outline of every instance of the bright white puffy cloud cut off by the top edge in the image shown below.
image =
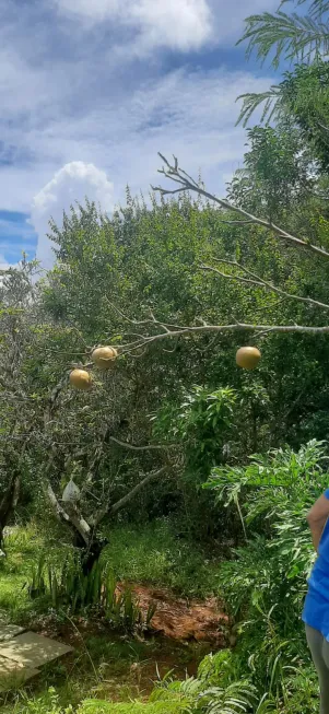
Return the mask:
{"type": "MultiPolygon", "coordinates": [[[[55,0],[60,12],[86,23],[116,24],[137,33],[134,50],[198,49],[212,34],[207,0],[55,0]]],[[[130,38],[131,43],[131,38],[130,38]]],[[[131,50],[131,47],[130,47],[131,50]]]]}

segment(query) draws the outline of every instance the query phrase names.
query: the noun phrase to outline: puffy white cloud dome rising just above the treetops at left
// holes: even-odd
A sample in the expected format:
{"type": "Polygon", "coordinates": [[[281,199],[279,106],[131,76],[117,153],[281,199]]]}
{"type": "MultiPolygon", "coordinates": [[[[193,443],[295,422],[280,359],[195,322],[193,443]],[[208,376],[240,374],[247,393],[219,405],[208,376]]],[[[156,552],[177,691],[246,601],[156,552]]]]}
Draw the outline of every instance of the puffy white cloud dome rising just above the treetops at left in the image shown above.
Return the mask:
{"type": "Polygon", "coordinates": [[[93,164],[74,161],[58,171],[34,197],[31,223],[38,234],[36,257],[45,268],[54,264],[51,242],[46,236],[49,232],[49,218],[60,224],[63,211],[69,210],[75,201],[84,203],[86,196],[99,204],[103,211],[108,211],[113,206],[113,184],[93,164]]]}

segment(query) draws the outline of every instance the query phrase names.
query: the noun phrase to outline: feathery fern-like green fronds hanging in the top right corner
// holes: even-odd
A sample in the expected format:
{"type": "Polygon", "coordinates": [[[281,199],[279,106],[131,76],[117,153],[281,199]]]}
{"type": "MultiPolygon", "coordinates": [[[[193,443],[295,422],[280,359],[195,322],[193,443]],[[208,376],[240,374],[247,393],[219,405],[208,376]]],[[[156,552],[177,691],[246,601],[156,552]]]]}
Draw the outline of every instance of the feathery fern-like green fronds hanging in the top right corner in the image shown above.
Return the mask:
{"type": "MultiPolygon", "coordinates": [[[[283,0],[281,7],[286,1],[283,0]]],[[[295,0],[297,5],[304,2],[295,0]]],[[[265,12],[247,17],[245,33],[238,42],[247,42],[247,58],[256,50],[261,62],[271,56],[275,68],[282,56],[297,65],[293,72],[284,73],[284,81],[279,85],[266,92],[240,95],[238,100],[243,100],[243,106],[238,122],[247,126],[255,110],[263,105],[261,121],[282,118],[290,113],[302,127],[304,137],[307,127],[312,132],[316,130],[321,143],[327,142],[324,121],[327,62],[322,57],[328,55],[329,47],[328,12],[328,2],[314,0],[306,15],[295,12],[287,15],[279,10],[274,14],[265,12]]]]}

